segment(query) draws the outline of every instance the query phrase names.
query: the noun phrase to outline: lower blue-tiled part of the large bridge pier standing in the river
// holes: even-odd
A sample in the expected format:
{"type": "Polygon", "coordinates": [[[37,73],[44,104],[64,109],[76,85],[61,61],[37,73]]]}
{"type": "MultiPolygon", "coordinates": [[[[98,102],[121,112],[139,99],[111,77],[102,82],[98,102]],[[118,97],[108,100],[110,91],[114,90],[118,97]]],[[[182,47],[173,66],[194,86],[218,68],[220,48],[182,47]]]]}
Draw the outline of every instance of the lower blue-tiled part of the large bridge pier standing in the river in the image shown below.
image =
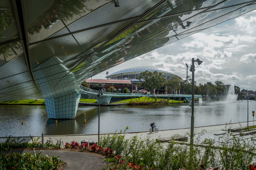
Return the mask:
{"type": "Polygon", "coordinates": [[[74,119],[80,96],[75,92],[55,99],[45,99],[48,118],[74,119]]]}

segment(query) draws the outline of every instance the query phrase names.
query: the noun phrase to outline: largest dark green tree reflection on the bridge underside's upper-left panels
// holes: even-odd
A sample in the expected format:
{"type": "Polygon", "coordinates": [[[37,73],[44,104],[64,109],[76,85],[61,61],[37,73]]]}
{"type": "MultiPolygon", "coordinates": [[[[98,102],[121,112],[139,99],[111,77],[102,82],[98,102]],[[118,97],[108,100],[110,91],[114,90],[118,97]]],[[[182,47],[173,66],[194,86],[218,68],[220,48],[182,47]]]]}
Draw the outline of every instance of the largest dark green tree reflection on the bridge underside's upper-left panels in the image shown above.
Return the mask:
{"type": "Polygon", "coordinates": [[[67,21],[71,20],[74,15],[79,15],[85,10],[89,10],[84,3],[86,0],[55,0],[51,7],[45,11],[33,24],[28,27],[31,35],[39,34],[42,25],[45,29],[49,29],[53,24],[59,21],[59,18],[67,21]]]}

